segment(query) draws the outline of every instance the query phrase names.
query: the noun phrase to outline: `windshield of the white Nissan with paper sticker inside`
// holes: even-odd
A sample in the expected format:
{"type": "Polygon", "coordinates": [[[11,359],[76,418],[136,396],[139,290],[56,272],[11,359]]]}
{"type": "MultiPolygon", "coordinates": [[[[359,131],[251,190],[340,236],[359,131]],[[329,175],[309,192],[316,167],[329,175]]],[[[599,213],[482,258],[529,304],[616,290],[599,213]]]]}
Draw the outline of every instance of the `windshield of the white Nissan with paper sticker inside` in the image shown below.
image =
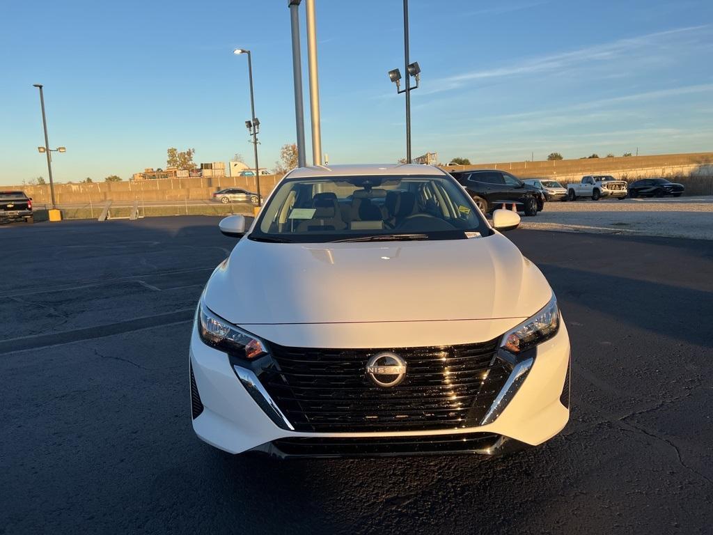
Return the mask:
{"type": "Polygon", "coordinates": [[[489,235],[471,198],[448,175],[283,180],[251,240],[323,243],[453,240],[489,235]]]}

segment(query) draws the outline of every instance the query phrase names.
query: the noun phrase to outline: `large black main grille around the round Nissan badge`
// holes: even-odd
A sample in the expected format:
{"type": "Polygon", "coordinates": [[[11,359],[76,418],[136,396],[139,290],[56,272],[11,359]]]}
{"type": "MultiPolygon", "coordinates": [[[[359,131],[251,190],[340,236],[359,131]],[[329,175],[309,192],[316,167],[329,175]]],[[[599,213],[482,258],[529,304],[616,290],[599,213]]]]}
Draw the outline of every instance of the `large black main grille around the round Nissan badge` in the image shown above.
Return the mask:
{"type": "Polygon", "coordinates": [[[471,427],[508,377],[493,358],[496,340],[388,350],[406,361],[406,378],[391,388],[366,377],[369,358],[387,350],[270,347],[272,363],[260,381],[294,429],[304,432],[471,427]]]}

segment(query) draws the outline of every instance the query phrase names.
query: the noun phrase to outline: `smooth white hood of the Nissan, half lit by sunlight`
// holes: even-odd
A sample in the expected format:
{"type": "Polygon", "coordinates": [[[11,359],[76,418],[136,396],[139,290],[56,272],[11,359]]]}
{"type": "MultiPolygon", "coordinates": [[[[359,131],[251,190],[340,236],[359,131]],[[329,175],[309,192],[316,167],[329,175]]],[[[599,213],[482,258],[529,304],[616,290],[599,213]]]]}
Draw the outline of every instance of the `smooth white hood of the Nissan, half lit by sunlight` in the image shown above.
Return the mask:
{"type": "Polygon", "coordinates": [[[469,240],[260,243],[243,238],[205,304],[236,325],[525,318],[552,295],[499,233],[469,240]]]}

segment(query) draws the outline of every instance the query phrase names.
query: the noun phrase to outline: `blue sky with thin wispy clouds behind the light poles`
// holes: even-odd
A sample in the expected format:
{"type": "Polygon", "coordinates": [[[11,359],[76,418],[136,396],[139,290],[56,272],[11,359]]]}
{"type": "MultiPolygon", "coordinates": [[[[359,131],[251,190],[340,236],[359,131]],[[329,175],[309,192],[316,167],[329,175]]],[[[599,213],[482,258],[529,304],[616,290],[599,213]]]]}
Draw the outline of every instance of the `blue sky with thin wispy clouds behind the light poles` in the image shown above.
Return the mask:
{"type": "MultiPolygon", "coordinates": [[[[42,175],[45,86],[57,180],[124,179],[195,161],[252,161],[252,49],[261,164],[294,133],[287,1],[6,3],[0,183],[42,175]]],[[[414,156],[443,161],[713,150],[713,2],[411,0],[414,156]]],[[[322,146],[332,163],[404,156],[401,1],[317,0],[322,146]]],[[[304,39],[304,11],[302,11],[304,39]]],[[[303,51],[307,94],[306,50],[303,51]]],[[[308,114],[309,108],[305,107],[308,114]]],[[[309,121],[308,121],[309,123],[309,121]]],[[[307,130],[309,140],[309,129],[307,130]]],[[[307,147],[308,161],[311,148],[307,147]]]]}

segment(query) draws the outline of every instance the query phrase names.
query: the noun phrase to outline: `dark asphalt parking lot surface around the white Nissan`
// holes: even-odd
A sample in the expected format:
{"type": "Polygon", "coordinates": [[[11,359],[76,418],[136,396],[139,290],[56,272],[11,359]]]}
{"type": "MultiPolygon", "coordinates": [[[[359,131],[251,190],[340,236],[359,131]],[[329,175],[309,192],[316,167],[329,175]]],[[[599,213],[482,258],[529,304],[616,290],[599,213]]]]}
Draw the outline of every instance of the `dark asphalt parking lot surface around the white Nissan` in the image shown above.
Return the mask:
{"type": "Polygon", "coordinates": [[[713,241],[508,233],[573,347],[543,446],[280,462],[191,429],[190,321],[235,243],[217,220],[0,228],[0,534],[712,531],[713,241]]]}

